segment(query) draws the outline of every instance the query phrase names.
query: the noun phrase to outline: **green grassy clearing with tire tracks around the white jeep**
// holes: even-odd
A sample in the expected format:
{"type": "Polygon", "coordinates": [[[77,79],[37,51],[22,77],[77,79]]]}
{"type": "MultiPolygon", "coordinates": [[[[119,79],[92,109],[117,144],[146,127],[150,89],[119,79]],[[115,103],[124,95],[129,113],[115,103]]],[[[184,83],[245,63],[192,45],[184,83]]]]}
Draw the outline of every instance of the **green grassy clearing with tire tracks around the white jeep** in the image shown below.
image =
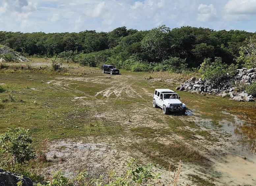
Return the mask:
{"type": "MultiPolygon", "coordinates": [[[[115,148],[140,158],[141,163],[155,162],[166,170],[172,163],[173,170],[181,159],[184,164],[209,169],[211,151],[200,140],[209,145],[228,139],[219,132],[220,121],[233,118],[223,111],[255,123],[256,104],[177,91],[187,106],[185,115],[163,115],[161,109],[153,108],[156,88],[174,90],[190,76],[122,69],[120,75],[110,75],[76,64],[52,71],[45,59],[1,64],[0,86],[6,91],[0,93],[0,133],[8,126],[30,129],[37,150],[45,139],[49,144],[107,139],[115,148]],[[194,117],[209,120],[211,128],[195,122],[194,117]]],[[[29,166],[39,171],[51,164],[34,160],[29,166]]],[[[211,179],[199,179],[198,175],[188,177],[194,177],[191,180],[198,185],[212,184],[211,179]]]]}

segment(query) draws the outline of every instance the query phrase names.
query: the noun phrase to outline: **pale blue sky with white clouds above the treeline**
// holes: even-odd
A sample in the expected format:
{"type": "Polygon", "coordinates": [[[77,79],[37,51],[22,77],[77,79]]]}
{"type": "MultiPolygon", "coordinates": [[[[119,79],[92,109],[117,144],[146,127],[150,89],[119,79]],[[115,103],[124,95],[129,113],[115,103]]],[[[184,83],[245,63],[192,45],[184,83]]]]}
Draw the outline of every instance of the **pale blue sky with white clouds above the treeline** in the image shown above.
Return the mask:
{"type": "Polygon", "coordinates": [[[109,32],[159,25],[256,32],[256,0],[1,0],[0,31],[109,32]]]}

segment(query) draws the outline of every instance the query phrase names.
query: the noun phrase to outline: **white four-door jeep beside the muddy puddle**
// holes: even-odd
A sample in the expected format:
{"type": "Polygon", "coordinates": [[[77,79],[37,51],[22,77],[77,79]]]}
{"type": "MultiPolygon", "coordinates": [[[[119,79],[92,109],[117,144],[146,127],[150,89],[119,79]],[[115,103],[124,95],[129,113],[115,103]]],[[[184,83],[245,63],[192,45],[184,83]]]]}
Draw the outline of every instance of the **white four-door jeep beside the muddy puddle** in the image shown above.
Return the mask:
{"type": "Polygon", "coordinates": [[[178,93],[170,89],[156,89],[153,98],[153,107],[163,109],[163,114],[171,112],[181,112],[185,114],[186,105],[180,101],[178,93]]]}

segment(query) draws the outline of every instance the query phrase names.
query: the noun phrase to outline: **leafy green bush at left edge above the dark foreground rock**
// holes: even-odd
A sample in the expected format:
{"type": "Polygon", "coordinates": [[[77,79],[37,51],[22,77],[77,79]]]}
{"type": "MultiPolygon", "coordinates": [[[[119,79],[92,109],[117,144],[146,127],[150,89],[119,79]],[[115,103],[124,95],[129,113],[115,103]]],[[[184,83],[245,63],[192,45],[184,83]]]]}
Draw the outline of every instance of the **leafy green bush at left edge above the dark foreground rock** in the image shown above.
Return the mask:
{"type": "Polygon", "coordinates": [[[29,129],[8,127],[7,132],[0,135],[0,144],[0,152],[9,155],[8,162],[11,162],[12,165],[15,162],[22,164],[35,158],[29,129]]]}

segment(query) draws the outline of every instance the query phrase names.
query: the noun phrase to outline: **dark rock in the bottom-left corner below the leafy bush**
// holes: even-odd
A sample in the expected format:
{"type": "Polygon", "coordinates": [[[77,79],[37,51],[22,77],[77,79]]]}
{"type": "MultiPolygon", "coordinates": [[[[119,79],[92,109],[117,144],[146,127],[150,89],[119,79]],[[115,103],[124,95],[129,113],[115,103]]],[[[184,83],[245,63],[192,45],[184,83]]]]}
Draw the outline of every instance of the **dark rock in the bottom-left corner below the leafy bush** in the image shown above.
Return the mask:
{"type": "Polygon", "coordinates": [[[0,169],[0,185],[2,186],[17,186],[17,182],[22,181],[22,186],[33,186],[30,178],[21,176],[20,174],[10,173],[0,169]]]}

